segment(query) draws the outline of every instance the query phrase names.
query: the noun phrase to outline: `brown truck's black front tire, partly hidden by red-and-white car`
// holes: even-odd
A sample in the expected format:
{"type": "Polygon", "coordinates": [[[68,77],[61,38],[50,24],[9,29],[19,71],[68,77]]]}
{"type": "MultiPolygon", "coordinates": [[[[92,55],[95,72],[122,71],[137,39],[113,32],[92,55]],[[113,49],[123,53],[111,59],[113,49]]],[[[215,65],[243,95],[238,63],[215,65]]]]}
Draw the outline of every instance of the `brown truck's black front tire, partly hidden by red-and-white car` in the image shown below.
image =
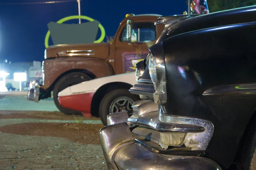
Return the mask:
{"type": "Polygon", "coordinates": [[[91,78],[84,73],[81,72],[72,72],[70,74],[64,75],[54,86],[53,89],[53,100],[56,107],[66,115],[79,115],[81,112],[75,111],[72,109],[67,109],[62,107],[58,103],[58,93],[61,92],[63,89],[67,88],[68,86],[73,86],[75,84],[79,84],[84,81],[91,80],[91,78]]]}

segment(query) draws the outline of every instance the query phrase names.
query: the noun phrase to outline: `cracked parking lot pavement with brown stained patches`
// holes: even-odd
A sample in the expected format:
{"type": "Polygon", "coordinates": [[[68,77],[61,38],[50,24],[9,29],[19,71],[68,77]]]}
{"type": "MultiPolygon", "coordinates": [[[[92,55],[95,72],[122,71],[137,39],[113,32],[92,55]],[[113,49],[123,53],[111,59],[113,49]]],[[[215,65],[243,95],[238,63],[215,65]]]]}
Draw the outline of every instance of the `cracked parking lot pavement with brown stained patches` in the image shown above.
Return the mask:
{"type": "Polygon", "coordinates": [[[99,118],[24,109],[0,110],[0,170],[108,169],[99,141],[103,127],[97,124],[99,118]]]}

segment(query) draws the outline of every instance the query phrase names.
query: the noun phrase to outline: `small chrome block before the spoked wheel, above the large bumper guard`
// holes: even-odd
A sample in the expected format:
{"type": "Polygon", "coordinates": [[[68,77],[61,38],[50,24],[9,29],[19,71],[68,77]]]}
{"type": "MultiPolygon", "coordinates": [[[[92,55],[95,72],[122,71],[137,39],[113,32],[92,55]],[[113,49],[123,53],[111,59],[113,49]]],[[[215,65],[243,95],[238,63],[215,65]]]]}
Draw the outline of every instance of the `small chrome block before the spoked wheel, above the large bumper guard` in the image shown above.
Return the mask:
{"type": "Polygon", "coordinates": [[[128,124],[128,126],[130,126],[130,124],[127,122],[128,118],[129,118],[128,112],[110,113],[107,116],[107,124],[112,125],[112,124],[126,122],[128,124]]]}

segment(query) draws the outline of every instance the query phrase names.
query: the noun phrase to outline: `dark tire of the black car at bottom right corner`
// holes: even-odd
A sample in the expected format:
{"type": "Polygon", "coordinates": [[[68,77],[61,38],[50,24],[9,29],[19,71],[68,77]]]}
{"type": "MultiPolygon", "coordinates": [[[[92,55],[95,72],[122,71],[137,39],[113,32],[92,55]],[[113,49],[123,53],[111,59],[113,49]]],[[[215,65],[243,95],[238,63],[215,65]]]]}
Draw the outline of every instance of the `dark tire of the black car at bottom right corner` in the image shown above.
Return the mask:
{"type": "Polygon", "coordinates": [[[244,135],[244,144],[237,170],[256,170],[256,115],[253,115],[244,135]]]}

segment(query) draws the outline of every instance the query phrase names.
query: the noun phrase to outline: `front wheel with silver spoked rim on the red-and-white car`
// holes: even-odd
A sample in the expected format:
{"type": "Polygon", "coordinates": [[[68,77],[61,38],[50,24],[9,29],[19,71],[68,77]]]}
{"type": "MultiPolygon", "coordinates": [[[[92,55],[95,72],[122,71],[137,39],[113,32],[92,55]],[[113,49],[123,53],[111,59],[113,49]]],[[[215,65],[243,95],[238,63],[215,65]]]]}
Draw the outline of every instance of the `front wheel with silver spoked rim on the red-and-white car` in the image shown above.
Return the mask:
{"type": "Polygon", "coordinates": [[[129,116],[131,116],[131,106],[137,100],[140,98],[131,94],[128,89],[115,89],[108,92],[99,104],[99,117],[102,123],[107,125],[107,116],[111,112],[128,111],[129,116]]]}

